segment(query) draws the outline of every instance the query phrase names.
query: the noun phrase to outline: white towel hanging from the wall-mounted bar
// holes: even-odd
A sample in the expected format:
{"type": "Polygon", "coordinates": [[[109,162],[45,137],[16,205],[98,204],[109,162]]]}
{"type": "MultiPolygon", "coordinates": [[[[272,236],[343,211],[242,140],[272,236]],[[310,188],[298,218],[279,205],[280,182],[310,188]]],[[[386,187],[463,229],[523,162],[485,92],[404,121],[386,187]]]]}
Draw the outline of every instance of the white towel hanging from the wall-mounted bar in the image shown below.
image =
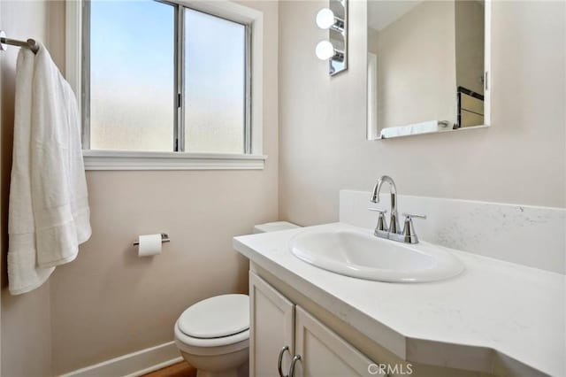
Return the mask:
{"type": "Polygon", "coordinates": [[[76,258],[91,234],[73,89],[49,52],[21,49],[9,209],[8,279],[18,295],[76,258]]]}

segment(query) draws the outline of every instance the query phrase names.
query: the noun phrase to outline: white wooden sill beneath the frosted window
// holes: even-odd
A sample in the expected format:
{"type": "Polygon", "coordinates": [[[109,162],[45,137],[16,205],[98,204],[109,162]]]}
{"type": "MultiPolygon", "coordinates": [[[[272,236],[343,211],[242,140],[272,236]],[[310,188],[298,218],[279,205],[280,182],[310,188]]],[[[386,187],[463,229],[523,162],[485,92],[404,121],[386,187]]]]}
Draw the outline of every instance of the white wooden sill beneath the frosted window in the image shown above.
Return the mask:
{"type": "Polygon", "coordinates": [[[267,156],[83,150],[85,170],[263,170],[267,156]]]}

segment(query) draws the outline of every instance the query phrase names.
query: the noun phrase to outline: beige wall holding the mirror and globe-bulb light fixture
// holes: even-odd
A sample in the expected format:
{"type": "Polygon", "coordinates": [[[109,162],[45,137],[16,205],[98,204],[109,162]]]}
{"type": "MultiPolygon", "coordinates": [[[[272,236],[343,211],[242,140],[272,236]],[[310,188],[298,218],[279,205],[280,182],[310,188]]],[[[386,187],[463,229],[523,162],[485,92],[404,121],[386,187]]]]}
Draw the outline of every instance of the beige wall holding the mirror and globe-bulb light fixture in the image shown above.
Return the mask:
{"type": "Polygon", "coordinates": [[[281,219],[334,221],[340,188],[369,191],[381,174],[406,195],[566,205],[566,4],[493,3],[493,127],[374,142],[365,140],[364,4],[349,3],[348,72],[330,78],[313,52],[325,2],[280,3],[281,219]]]}

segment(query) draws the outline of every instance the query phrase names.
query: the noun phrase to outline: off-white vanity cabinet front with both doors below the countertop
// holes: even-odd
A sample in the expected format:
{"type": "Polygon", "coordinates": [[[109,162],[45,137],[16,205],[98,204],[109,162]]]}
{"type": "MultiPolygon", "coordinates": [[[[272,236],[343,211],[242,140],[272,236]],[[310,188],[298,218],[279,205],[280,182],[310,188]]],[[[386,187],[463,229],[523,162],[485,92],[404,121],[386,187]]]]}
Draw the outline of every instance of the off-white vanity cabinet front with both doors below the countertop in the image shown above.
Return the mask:
{"type": "Polygon", "coordinates": [[[253,272],[249,273],[249,294],[251,377],[278,377],[279,358],[283,376],[379,375],[371,359],[253,272]]]}

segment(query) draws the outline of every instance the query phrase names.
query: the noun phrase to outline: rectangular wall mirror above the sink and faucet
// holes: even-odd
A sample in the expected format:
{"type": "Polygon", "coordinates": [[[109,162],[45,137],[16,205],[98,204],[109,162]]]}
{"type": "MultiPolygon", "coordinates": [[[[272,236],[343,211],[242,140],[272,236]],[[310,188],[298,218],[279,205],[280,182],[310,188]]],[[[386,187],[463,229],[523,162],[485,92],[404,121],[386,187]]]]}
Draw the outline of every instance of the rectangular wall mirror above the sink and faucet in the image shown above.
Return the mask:
{"type": "Polygon", "coordinates": [[[368,139],[488,126],[488,4],[368,0],[368,139]]]}

